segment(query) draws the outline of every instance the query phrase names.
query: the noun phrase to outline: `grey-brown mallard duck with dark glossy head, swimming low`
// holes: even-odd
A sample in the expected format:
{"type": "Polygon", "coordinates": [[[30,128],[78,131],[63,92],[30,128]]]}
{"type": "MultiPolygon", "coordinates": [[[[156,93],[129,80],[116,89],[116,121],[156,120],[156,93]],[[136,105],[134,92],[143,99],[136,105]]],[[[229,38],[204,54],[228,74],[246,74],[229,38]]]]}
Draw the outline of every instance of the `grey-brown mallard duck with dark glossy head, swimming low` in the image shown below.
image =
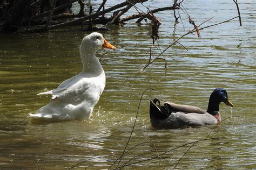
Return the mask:
{"type": "Polygon", "coordinates": [[[156,129],[178,129],[184,126],[196,127],[202,125],[217,124],[221,121],[219,104],[224,102],[233,107],[224,88],[213,90],[207,111],[191,105],[174,104],[160,101],[155,98],[150,100],[150,120],[153,128],[156,129]]]}

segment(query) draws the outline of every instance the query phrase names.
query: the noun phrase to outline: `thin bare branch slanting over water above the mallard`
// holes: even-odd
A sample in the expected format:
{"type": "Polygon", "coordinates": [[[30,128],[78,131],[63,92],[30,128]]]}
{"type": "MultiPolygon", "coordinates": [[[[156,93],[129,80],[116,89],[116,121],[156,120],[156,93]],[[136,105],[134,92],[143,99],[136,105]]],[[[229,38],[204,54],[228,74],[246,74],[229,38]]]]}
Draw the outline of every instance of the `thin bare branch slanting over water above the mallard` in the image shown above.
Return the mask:
{"type": "MultiPolygon", "coordinates": [[[[178,39],[174,40],[171,42],[171,44],[169,46],[167,46],[159,55],[157,55],[156,58],[154,58],[152,61],[146,63],[146,65],[144,65],[140,70],[144,70],[147,66],[149,66],[152,62],[154,62],[157,58],[159,58],[159,56],[161,56],[167,49],[169,49],[173,44],[175,44],[177,41],[179,41],[181,38],[187,36],[188,34],[191,34],[191,33],[194,33],[194,32],[197,32],[199,30],[203,30],[203,29],[206,29],[208,27],[212,27],[212,26],[216,26],[216,25],[220,25],[220,24],[223,24],[223,23],[227,23],[227,22],[230,22],[231,20],[235,19],[235,18],[238,18],[239,16],[237,17],[234,17],[234,18],[231,18],[231,19],[228,19],[228,20],[225,20],[224,22],[221,22],[221,23],[217,23],[217,24],[213,24],[213,25],[208,25],[208,26],[205,26],[201,29],[193,29],[191,31],[188,31],[187,33],[183,34],[182,36],[180,36],[178,39]]],[[[204,22],[205,23],[205,22],[204,22]]],[[[202,24],[201,24],[202,25],[202,24]]],[[[200,25],[199,25],[200,26],[200,25]]],[[[199,27],[198,26],[198,27],[199,27]]]]}

